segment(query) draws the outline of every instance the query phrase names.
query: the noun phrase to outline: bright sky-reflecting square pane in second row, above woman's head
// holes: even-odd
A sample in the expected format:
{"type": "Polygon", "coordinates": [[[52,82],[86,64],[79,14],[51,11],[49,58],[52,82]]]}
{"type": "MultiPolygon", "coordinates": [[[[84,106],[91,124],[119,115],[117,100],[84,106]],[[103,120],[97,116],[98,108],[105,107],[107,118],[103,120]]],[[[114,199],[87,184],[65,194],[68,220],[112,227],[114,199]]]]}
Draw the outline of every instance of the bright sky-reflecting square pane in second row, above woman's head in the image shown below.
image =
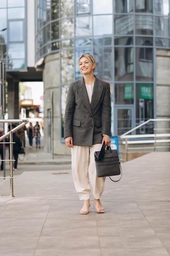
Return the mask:
{"type": "Polygon", "coordinates": [[[113,34],[113,16],[93,16],[93,32],[94,36],[113,34]],[[108,24],[108,26],[106,26],[106,24],[108,24]]]}

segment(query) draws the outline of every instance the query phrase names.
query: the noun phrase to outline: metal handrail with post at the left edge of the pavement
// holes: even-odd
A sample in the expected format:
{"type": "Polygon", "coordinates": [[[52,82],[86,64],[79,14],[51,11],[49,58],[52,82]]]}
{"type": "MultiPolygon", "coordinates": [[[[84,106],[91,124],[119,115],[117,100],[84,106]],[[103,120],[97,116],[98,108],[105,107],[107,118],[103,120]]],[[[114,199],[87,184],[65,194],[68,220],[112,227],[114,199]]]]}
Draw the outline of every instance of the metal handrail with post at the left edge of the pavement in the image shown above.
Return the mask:
{"type": "MultiPolygon", "coordinates": [[[[10,177],[0,177],[0,178],[1,179],[10,179],[10,197],[14,197],[14,195],[13,195],[13,179],[15,179],[15,177],[13,177],[13,161],[15,161],[13,159],[13,143],[14,143],[13,142],[13,132],[16,132],[20,128],[24,127],[28,122],[29,122],[28,119],[0,119],[0,123],[3,123],[3,124],[10,123],[12,125],[12,124],[20,123],[18,126],[9,130],[6,134],[4,134],[0,137],[0,141],[9,137],[9,159],[1,159],[1,161],[9,161],[10,162],[10,177]]],[[[8,142],[0,142],[0,143],[5,144],[8,142]]],[[[5,171],[4,171],[4,173],[5,173],[5,171]]]]}

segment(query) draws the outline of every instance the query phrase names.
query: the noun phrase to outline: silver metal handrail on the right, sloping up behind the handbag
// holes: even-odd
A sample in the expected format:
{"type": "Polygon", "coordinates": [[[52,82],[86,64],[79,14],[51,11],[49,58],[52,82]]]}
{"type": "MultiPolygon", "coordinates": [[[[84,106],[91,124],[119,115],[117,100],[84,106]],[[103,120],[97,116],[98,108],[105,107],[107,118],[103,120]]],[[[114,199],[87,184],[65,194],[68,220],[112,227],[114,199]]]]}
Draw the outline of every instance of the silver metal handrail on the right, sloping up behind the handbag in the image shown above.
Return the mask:
{"type": "MultiPolygon", "coordinates": [[[[126,160],[127,160],[127,152],[128,152],[128,144],[147,144],[147,143],[152,143],[154,144],[154,151],[156,151],[157,149],[157,143],[161,143],[161,142],[165,142],[165,143],[169,143],[170,142],[170,133],[157,133],[157,130],[170,130],[167,128],[153,128],[153,130],[155,131],[155,133],[153,134],[142,134],[142,135],[129,135],[129,133],[137,130],[138,128],[145,126],[146,124],[148,124],[149,122],[157,122],[157,121],[170,121],[169,118],[164,118],[164,119],[148,119],[147,121],[145,121],[142,124],[139,124],[138,126],[136,126],[135,128],[132,128],[131,130],[129,130],[128,132],[125,132],[124,134],[122,134],[120,136],[121,139],[121,143],[125,144],[125,153],[126,153],[126,160]],[[166,139],[163,139],[163,137],[166,137],[166,139]],[[146,140],[144,140],[144,138],[146,138],[146,140]],[[148,139],[148,138],[153,138],[153,139],[148,139]],[[159,138],[159,139],[158,139],[159,138]],[[169,138],[169,139],[167,139],[169,138]],[[129,139],[131,139],[129,141],[129,139]],[[134,140],[132,140],[134,139],[134,140]],[[140,139],[140,140],[137,140],[140,139]]],[[[137,149],[137,148],[135,148],[137,149]]]]}

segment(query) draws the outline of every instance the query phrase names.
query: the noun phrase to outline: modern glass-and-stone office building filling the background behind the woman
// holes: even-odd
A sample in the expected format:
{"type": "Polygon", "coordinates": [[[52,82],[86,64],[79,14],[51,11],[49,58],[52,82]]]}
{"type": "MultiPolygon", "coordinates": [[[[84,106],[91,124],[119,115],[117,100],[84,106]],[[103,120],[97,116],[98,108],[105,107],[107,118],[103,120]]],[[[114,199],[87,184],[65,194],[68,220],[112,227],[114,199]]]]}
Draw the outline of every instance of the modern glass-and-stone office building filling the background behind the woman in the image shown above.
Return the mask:
{"type": "MultiPolygon", "coordinates": [[[[170,117],[170,0],[3,3],[0,17],[6,9],[7,29],[0,32],[0,59],[7,63],[12,92],[16,78],[44,82],[47,152],[70,153],[64,144],[64,109],[70,82],[81,77],[78,57],[84,52],[96,58],[95,75],[110,83],[112,136],[150,118],[170,117]]],[[[152,126],[137,130],[150,132],[152,126]]]]}

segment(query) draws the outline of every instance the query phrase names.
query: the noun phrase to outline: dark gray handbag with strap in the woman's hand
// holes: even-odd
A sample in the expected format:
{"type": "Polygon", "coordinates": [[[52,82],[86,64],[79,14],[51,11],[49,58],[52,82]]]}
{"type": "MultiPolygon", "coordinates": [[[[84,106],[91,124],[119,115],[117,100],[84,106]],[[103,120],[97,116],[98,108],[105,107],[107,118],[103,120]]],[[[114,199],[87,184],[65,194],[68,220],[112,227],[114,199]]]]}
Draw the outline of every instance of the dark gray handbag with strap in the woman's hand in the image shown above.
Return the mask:
{"type": "MultiPolygon", "coordinates": [[[[100,151],[95,152],[95,163],[98,177],[122,175],[120,158],[116,149],[105,147],[105,142],[100,151]]],[[[121,176],[119,180],[121,179],[121,176]]],[[[110,180],[112,180],[110,178],[110,180]]],[[[119,180],[112,180],[118,182],[119,180]]]]}

